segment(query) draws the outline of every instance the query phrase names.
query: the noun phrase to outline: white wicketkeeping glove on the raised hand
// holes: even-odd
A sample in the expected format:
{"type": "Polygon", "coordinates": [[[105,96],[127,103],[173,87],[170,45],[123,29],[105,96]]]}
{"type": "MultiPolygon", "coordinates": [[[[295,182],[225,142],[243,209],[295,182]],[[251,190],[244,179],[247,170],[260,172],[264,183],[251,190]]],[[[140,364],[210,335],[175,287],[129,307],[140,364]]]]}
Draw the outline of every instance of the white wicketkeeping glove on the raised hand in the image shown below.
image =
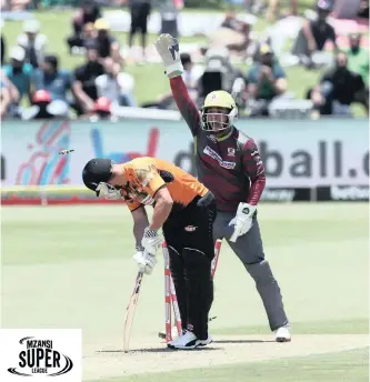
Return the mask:
{"type": "Polygon", "coordinates": [[[179,41],[171,34],[162,33],[156,40],[154,47],[164,63],[166,74],[169,78],[181,76],[183,67],[180,60],[179,41]]]}

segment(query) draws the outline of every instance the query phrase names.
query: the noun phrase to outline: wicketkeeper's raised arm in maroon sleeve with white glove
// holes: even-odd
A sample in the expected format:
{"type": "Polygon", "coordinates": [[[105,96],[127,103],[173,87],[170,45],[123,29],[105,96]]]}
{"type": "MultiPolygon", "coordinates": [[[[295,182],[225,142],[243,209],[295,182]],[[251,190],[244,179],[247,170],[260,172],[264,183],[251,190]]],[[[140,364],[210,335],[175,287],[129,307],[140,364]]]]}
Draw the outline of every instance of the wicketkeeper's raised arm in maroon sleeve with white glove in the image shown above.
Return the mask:
{"type": "Polygon", "coordinates": [[[188,123],[191,133],[197,135],[201,122],[200,112],[190,99],[181,77],[183,67],[180,59],[179,42],[170,34],[161,34],[154,42],[154,46],[163,61],[166,74],[170,79],[172,94],[179,111],[188,123]]]}

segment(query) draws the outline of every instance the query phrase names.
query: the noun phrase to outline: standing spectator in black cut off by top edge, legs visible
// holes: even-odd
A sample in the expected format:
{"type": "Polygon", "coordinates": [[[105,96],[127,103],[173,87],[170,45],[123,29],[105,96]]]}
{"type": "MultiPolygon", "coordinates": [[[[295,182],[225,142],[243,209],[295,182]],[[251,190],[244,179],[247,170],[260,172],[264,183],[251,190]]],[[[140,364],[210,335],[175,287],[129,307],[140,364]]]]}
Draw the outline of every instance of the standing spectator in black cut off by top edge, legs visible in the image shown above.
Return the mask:
{"type": "Polygon", "coordinates": [[[151,0],[128,0],[131,13],[131,28],[129,33],[129,47],[136,33],[141,32],[142,58],[146,59],[148,17],[151,11],[151,0]]]}

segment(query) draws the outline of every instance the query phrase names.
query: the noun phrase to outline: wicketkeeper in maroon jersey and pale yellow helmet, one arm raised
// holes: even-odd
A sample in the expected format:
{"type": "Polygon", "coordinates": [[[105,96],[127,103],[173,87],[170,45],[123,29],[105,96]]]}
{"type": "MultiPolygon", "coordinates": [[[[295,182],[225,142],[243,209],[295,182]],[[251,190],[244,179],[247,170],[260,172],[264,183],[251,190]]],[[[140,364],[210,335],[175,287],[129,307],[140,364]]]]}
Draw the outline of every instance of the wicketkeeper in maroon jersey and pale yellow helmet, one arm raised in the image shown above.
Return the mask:
{"type": "Polygon", "coordinates": [[[230,93],[207,94],[201,111],[191,101],[182,80],[179,43],[170,34],[154,42],[173,99],[194,138],[198,179],[216,197],[216,239],[226,239],[256,282],[276,341],[291,340],[279,284],[268,260],[257,219],[257,204],[266,184],[264,167],[252,138],[234,125],[237,104],[230,93]]]}

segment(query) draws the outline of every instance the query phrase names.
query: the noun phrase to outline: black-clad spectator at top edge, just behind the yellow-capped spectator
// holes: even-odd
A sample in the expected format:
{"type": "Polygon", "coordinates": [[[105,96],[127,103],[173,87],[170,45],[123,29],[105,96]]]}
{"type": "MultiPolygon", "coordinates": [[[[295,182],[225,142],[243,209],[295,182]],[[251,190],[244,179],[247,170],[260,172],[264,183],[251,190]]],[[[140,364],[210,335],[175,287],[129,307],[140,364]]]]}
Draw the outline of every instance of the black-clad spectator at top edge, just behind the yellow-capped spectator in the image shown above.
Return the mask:
{"type": "Polygon", "coordinates": [[[84,39],[83,31],[86,30],[86,24],[93,24],[100,18],[100,8],[93,0],[82,1],[81,8],[78,9],[72,19],[73,36],[67,39],[70,52],[72,51],[72,47],[83,47],[82,42],[84,39]]]}

